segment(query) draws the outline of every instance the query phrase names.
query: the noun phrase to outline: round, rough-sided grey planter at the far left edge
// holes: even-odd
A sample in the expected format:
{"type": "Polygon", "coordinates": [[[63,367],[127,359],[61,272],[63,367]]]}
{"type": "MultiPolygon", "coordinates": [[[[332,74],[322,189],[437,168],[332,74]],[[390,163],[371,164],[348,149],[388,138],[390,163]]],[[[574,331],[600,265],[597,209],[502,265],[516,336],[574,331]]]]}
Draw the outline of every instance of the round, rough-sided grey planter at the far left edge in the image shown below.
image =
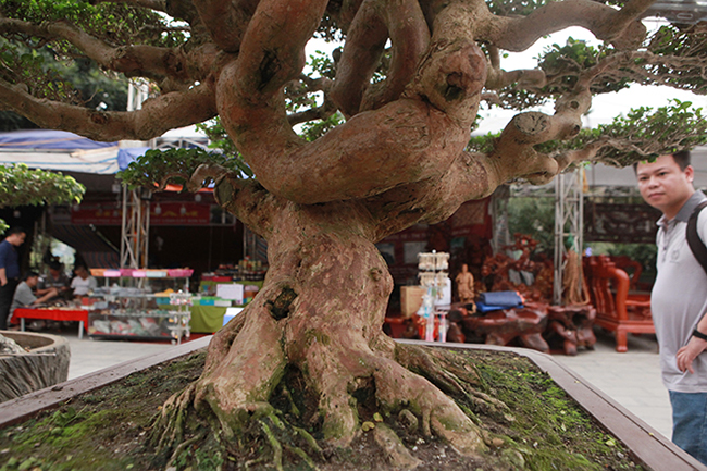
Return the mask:
{"type": "Polygon", "coordinates": [[[0,402],[63,383],[71,351],[64,337],[30,332],[0,331],[28,352],[0,355],[0,402]]]}

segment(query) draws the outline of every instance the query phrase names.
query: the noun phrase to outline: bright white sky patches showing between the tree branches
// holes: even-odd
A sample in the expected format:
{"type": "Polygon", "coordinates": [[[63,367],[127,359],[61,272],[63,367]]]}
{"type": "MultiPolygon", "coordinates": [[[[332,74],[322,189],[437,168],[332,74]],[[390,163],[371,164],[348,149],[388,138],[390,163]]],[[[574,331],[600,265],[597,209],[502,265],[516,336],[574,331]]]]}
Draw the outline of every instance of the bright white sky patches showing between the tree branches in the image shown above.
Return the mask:
{"type": "MultiPolygon", "coordinates": [[[[646,20],[644,24],[648,29],[654,29],[660,26],[660,23],[654,20],[646,20]]],[[[516,69],[534,69],[537,64],[536,57],[543,50],[553,45],[565,45],[568,37],[574,39],[586,40],[590,45],[598,46],[598,41],[592,33],[584,28],[571,27],[559,33],[555,33],[544,39],[538,40],[533,47],[524,52],[511,52],[507,58],[501,59],[501,67],[510,71],[516,69]]],[[[323,52],[331,51],[336,46],[326,44],[321,40],[312,40],[307,47],[307,55],[314,53],[315,50],[323,52]]],[[[670,87],[658,86],[638,86],[633,85],[628,89],[603,94],[594,97],[592,108],[586,116],[583,116],[583,124],[585,127],[594,127],[598,124],[607,124],[613,121],[615,116],[619,114],[627,114],[631,108],[652,107],[659,108],[669,103],[670,99],[679,99],[681,101],[691,101],[695,107],[707,109],[707,97],[692,94],[685,90],[678,90],[670,87]]],[[[500,110],[494,107],[488,110],[483,107],[480,109],[479,114],[483,117],[481,125],[472,134],[483,135],[487,133],[498,133],[505,125],[516,115],[517,111],[500,110]]],[[[529,109],[526,111],[542,111],[548,114],[554,112],[553,103],[544,108],[529,109]]]]}

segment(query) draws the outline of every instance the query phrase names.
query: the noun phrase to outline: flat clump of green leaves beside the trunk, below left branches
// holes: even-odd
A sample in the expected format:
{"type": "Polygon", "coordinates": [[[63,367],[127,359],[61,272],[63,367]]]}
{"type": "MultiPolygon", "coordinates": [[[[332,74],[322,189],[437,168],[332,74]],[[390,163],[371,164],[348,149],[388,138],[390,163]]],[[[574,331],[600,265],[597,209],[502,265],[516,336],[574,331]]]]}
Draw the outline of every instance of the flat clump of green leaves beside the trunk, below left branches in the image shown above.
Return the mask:
{"type": "Polygon", "coordinates": [[[252,172],[239,157],[191,148],[148,150],[131,162],[127,169],[119,172],[117,177],[133,188],[142,186],[157,189],[156,185],[168,182],[184,185],[199,165],[207,163],[221,165],[240,176],[252,176],[252,172]]]}

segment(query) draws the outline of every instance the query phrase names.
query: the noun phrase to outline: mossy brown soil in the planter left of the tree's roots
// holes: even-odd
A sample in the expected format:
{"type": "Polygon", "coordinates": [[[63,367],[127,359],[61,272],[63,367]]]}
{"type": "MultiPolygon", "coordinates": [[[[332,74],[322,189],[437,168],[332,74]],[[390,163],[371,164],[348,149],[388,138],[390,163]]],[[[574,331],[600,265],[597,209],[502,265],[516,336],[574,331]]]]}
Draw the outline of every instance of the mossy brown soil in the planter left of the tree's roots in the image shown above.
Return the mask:
{"type": "Polygon", "coordinates": [[[0,430],[0,449],[9,450],[0,471],[149,469],[151,456],[145,449],[123,445],[147,441],[154,413],[169,396],[199,376],[204,358],[198,354],[133,374],[40,412],[35,420],[0,430]]]}

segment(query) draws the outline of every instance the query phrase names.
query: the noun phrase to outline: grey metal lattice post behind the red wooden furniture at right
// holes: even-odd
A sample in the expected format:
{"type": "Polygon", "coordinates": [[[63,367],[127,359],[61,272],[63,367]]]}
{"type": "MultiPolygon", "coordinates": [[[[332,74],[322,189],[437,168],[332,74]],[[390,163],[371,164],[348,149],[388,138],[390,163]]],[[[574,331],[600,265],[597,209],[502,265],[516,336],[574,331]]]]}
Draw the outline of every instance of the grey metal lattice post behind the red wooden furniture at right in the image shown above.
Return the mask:
{"type": "MultiPolygon", "coordinates": [[[[584,169],[555,178],[555,283],[553,303],[562,303],[562,274],[570,250],[582,253],[584,234],[584,169]],[[569,244],[569,248],[568,248],[569,244]]],[[[582,276],[579,278],[580,293],[582,276]]]]}

